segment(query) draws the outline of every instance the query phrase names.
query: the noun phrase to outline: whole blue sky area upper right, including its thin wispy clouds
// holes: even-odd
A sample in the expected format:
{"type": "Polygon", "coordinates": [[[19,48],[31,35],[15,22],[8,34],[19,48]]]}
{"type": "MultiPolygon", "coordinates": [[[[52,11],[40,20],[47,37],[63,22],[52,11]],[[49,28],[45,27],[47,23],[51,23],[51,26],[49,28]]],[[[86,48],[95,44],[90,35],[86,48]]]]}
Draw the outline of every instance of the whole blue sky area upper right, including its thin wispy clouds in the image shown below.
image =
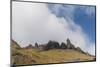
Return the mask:
{"type": "Polygon", "coordinates": [[[95,42],[95,6],[49,4],[51,13],[57,17],[71,18],[80,25],[91,42],[95,42]]]}

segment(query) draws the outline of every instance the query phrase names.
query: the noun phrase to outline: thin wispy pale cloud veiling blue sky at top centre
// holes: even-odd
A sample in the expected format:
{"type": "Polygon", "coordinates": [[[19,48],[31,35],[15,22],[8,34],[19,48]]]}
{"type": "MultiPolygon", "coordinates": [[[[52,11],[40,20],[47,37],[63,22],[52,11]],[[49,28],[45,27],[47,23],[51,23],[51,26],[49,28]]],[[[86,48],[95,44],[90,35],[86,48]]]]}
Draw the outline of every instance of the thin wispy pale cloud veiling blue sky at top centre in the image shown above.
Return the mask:
{"type": "Polygon", "coordinates": [[[76,6],[65,4],[49,4],[48,7],[49,9],[51,9],[51,12],[56,14],[57,16],[60,16],[62,13],[66,18],[68,16],[71,19],[74,19],[76,6]]]}

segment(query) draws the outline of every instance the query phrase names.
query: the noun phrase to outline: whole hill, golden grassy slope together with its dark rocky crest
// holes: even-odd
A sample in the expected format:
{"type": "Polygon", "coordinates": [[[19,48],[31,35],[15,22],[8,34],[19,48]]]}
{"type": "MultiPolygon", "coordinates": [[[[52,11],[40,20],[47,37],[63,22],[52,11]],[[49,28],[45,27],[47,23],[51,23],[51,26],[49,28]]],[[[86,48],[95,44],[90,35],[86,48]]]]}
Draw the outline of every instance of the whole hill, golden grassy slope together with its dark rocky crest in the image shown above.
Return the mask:
{"type": "Polygon", "coordinates": [[[70,40],[60,45],[56,41],[49,41],[47,44],[35,46],[31,44],[21,48],[19,44],[12,40],[12,65],[27,64],[48,64],[77,61],[95,61],[95,56],[85,53],[81,48],[75,47],[70,40]]]}

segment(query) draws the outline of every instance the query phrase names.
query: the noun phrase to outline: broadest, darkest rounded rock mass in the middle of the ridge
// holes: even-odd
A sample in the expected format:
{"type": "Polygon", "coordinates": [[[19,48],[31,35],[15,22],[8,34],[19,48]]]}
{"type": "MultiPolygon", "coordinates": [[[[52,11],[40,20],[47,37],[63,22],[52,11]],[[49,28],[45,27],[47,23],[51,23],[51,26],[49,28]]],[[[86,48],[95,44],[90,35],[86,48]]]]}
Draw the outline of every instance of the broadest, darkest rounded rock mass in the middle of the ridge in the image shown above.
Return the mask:
{"type": "Polygon", "coordinates": [[[49,50],[49,49],[59,49],[59,48],[60,48],[60,45],[56,41],[49,41],[47,43],[47,45],[45,46],[45,50],[49,50]]]}

